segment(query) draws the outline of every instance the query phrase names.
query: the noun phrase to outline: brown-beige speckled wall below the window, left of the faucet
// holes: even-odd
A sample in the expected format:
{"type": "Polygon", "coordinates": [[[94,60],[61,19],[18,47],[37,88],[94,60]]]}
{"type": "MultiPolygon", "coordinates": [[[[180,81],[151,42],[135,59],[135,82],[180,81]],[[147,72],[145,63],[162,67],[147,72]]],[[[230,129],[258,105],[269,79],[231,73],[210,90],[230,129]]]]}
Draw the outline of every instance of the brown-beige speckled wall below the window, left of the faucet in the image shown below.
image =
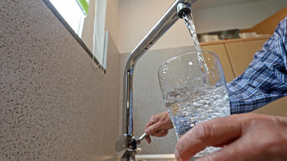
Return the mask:
{"type": "Polygon", "coordinates": [[[43,1],[0,6],[0,160],[116,160],[112,39],[103,74],[43,1]]]}

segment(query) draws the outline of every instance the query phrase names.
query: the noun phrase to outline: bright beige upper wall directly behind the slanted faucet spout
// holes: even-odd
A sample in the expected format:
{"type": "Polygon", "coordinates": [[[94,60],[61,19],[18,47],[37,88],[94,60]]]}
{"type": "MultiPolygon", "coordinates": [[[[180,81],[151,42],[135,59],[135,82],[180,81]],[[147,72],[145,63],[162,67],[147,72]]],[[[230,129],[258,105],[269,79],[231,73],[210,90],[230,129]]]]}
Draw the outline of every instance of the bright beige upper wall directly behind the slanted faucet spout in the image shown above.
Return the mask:
{"type": "MultiPolygon", "coordinates": [[[[171,6],[173,0],[121,0],[119,5],[119,51],[129,53],[146,36],[164,12],[171,6]]],[[[183,22],[177,22],[151,48],[173,48],[192,44],[188,30],[183,22]],[[186,42],[185,42],[186,41],[186,42]]]]}

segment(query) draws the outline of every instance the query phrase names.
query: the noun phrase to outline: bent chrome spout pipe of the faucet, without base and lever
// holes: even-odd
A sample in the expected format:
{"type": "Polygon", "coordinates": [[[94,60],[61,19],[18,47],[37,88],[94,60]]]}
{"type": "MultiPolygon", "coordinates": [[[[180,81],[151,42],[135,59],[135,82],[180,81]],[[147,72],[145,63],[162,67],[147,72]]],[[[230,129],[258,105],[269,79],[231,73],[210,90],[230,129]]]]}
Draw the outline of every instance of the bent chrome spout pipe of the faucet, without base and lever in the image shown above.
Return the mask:
{"type": "Polygon", "coordinates": [[[143,38],[139,45],[134,48],[128,61],[125,64],[125,70],[123,75],[123,134],[133,135],[132,126],[132,76],[134,73],[134,67],[137,60],[146,51],[155,44],[155,42],[164,35],[164,33],[173,26],[173,24],[182,18],[183,12],[191,12],[191,6],[196,0],[176,0],[170,8],[164,13],[161,19],[155,24],[152,30],[148,32],[148,35],[143,38]]]}

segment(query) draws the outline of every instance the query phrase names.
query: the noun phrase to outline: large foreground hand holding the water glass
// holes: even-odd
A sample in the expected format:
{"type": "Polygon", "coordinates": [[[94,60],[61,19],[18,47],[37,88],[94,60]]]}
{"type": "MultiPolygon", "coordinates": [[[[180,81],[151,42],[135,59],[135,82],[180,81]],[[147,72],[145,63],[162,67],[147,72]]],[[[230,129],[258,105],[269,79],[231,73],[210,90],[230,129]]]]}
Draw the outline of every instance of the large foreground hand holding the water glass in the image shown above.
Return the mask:
{"type": "Polygon", "coordinates": [[[287,117],[231,115],[202,122],[177,142],[177,160],[189,160],[207,146],[223,149],[196,161],[287,160],[287,117]]]}

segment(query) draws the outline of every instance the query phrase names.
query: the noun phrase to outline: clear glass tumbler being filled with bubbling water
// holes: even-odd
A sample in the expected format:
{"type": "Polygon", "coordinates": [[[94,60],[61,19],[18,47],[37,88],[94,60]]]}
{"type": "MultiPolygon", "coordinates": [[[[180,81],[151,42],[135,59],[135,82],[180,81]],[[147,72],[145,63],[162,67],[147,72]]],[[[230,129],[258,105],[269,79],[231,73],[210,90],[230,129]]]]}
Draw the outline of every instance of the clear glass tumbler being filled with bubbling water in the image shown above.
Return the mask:
{"type": "MultiPolygon", "coordinates": [[[[225,76],[214,53],[195,51],[172,57],[159,67],[158,76],[177,139],[200,122],[230,115],[225,76]]],[[[194,158],[217,150],[207,147],[194,158]]]]}

